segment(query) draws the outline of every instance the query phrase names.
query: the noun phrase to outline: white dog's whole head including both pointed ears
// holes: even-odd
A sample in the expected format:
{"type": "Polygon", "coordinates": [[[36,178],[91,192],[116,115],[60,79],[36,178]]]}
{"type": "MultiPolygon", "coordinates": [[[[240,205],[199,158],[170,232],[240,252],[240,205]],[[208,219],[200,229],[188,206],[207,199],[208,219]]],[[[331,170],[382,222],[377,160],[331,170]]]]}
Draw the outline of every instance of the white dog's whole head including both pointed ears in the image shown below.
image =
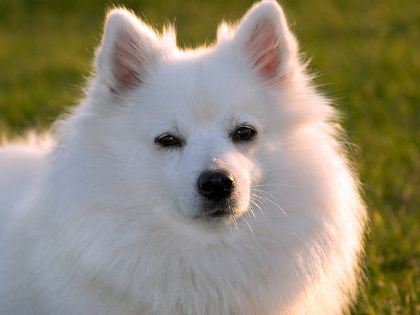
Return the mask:
{"type": "Polygon", "coordinates": [[[231,220],[253,211],[253,185],[269,170],[261,152],[279,139],[281,118],[270,117],[285,113],[279,86],[296,43],[274,2],[222,25],[214,47],[175,43],[172,30],[158,36],[129,12],[110,12],[95,92],[113,104],[107,145],[128,189],[152,194],[157,211],[231,220]]]}

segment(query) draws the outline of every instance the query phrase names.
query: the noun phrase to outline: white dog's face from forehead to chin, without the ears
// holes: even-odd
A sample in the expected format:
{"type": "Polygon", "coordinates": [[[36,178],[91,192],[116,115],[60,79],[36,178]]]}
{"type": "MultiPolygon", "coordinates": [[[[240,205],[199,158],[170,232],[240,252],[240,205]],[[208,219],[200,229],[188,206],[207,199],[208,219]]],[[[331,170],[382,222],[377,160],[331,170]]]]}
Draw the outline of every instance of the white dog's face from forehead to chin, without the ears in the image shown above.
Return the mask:
{"type": "Polygon", "coordinates": [[[130,117],[142,117],[146,159],[152,159],[163,198],[187,217],[220,220],[248,211],[250,185],[259,176],[256,151],[264,135],[252,105],[266,97],[253,97],[257,94],[242,89],[249,82],[229,72],[216,82],[224,69],[209,60],[218,56],[208,57],[163,65],[133,93],[129,107],[130,117]],[[139,99],[150,106],[146,113],[139,99]]]}

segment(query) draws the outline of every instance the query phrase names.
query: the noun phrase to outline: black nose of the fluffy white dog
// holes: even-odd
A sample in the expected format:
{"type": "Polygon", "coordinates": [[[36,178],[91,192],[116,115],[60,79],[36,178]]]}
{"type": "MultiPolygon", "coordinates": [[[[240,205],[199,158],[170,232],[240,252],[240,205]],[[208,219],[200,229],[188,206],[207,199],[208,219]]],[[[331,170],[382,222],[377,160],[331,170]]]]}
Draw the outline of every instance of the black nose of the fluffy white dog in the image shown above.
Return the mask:
{"type": "Polygon", "coordinates": [[[222,200],[235,189],[235,178],[224,170],[203,172],[198,177],[198,190],[206,198],[222,200]]]}

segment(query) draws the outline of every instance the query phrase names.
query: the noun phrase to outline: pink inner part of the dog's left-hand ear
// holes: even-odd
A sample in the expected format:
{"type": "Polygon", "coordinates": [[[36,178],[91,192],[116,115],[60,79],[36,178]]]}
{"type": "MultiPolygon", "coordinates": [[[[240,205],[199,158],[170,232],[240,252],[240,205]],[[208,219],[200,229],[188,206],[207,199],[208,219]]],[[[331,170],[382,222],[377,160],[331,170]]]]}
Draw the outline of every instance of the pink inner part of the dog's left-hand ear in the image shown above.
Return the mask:
{"type": "Polygon", "coordinates": [[[124,32],[117,36],[113,54],[113,75],[116,81],[115,86],[111,87],[113,93],[141,84],[139,72],[143,65],[142,52],[135,38],[124,32]]]}

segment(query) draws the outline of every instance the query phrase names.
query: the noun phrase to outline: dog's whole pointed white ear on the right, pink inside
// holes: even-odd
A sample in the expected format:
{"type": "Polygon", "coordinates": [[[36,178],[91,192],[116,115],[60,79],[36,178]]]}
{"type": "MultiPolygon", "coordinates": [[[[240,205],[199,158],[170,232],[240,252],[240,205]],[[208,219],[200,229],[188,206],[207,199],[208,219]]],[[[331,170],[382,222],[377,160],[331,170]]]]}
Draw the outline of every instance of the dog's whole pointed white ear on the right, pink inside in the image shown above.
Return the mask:
{"type": "Polygon", "coordinates": [[[296,39],[288,30],[283,10],[273,0],[254,5],[237,26],[232,41],[234,50],[245,56],[268,84],[282,80],[290,60],[297,56],[296,39]]]}

